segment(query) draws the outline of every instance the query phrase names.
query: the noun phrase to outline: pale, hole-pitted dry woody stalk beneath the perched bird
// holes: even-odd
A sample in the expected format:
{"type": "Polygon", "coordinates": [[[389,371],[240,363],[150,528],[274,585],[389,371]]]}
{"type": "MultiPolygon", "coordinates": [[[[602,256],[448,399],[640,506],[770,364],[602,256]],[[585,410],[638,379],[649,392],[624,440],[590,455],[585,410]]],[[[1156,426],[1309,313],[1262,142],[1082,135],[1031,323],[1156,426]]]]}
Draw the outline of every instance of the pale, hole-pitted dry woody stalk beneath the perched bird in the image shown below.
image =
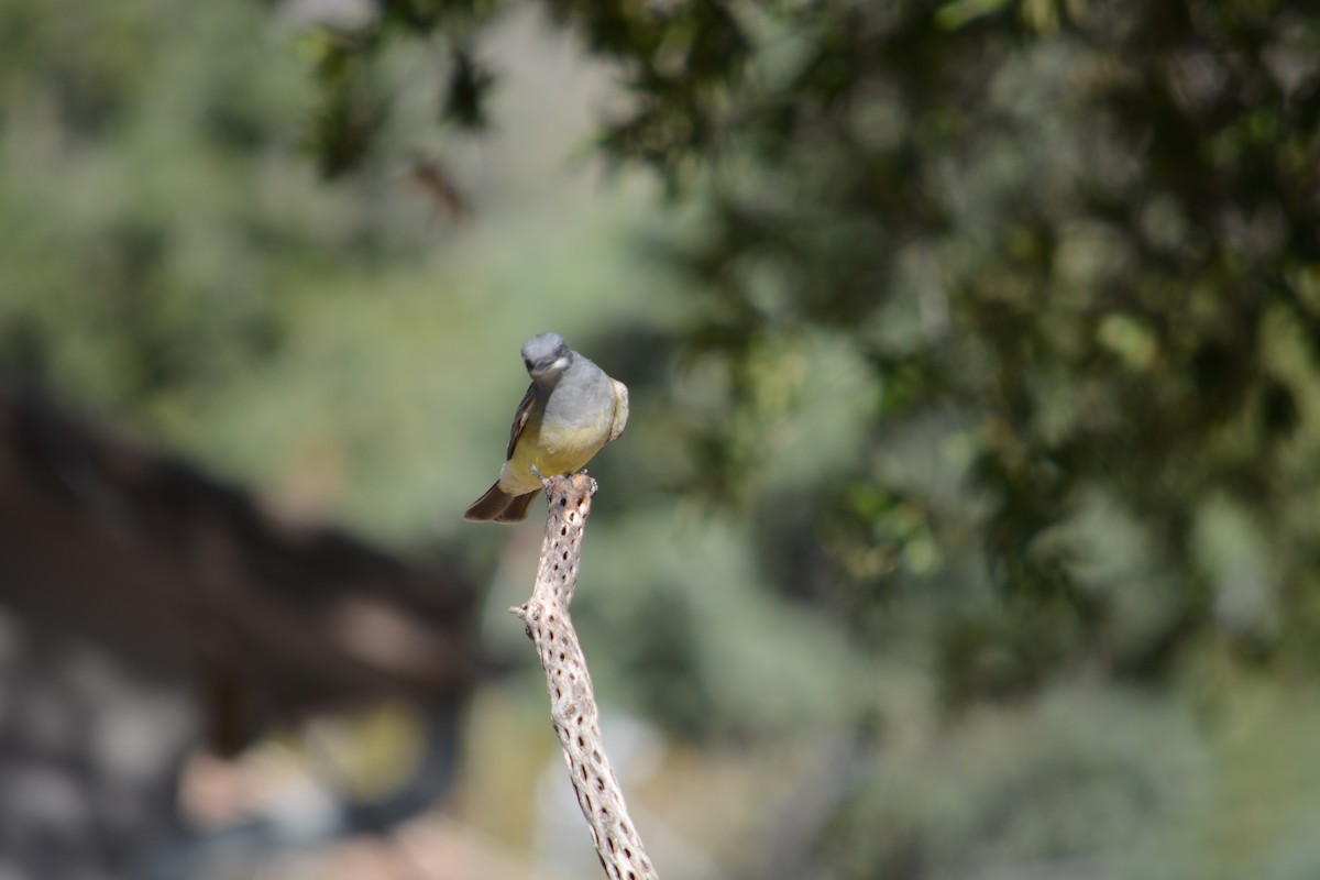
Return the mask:
{"type": "Polygon", "coordinates": [[[656,871],[628,818],[623,790],[601,743],[591,676],[569,617],[595,480],[586,474],[552,476],[545,488],[550,512],[536,586],[531,599],[510,611],[527,624],[527,635],[545,669],[550,720],[601,865],[612,880],[655,880],[656,871]]]}

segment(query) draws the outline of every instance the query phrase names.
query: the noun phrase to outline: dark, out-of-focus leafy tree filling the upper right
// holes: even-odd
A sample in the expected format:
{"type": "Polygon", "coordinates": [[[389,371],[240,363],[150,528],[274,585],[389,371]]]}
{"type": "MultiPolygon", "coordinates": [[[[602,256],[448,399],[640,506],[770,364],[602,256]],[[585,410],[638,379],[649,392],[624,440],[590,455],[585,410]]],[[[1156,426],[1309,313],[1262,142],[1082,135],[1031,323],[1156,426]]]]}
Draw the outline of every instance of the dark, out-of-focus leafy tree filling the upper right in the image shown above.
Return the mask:
{"type": "MultiPolygon", "coordinates": [[[[445,33],[445,8],[416,29],[445,33]]],[[[1313,13],[552,9],[632,98],[605,153],[697,206],[660,243],[698,294],[673,334],[705,385],[676,401],[692,487],[777,504],[772,447],[820,393],[804,350],[870,365],[851,401],[870,437],[799,487],[817,500],[776,536],[824,545],[829,575],[804,587],[784,567],[781,590],[830,594],[862,639],[898,583],[957,591],[927,616],[954,703],[1097,661],[1159,678],[1206,637],[1315,660],[1313,13]],[[933,479],[907,467],[912,443],[944,450],[933,479]],[[1262,583],[1230,586],[1206,558],[1217,511],[1263,542],[1262,583]],[[1133,553],[1104,546],[1113,529],[1140,536],[1140,574],[1096,559],[1133,553]],[[962,577],[968,557],[983,577],[962,577]]]]}

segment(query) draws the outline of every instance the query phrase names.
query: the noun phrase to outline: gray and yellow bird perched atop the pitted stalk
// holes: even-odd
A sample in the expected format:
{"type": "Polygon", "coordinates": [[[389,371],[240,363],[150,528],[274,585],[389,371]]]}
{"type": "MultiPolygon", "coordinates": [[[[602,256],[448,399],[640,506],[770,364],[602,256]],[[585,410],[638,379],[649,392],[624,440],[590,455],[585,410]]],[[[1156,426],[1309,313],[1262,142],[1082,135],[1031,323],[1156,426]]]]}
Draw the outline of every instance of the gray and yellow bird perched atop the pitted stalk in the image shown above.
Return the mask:
{"type": "Polygon", "coordinates": [[[582,470],[628,424],[628,387],[611,379],[557,332],[523,343],[532,377],[508,431],[504,467],[463,515],[473,522],[521,522],[541,476],[582,470]]]}

